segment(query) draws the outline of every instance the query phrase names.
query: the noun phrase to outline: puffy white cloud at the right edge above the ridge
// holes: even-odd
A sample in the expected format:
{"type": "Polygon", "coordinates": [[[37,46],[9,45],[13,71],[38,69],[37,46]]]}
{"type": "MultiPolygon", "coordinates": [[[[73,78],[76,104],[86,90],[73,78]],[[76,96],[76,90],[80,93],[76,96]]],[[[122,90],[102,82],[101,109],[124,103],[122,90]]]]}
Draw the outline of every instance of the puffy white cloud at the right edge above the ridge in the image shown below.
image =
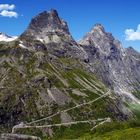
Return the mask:
{"type": "Polygon", "coordinates": [[[140,24],[138,25],[136,31],[134,29],[125,30],[125,40],[127,41],[140,40],[140,24]]]}

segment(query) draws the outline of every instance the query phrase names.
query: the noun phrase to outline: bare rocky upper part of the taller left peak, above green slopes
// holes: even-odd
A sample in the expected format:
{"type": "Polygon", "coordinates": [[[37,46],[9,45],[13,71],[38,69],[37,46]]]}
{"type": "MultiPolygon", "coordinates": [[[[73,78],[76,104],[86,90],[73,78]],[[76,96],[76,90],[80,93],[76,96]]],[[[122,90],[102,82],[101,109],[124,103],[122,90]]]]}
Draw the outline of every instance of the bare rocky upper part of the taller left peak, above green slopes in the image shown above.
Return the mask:
{"type": "Polygon", "coordinates": [[[67,23],[53,9],[34,17],[20,40],[28,48],[46,49],[55,56],[87,59],[86,52],[72,38],[67,23]]]}

